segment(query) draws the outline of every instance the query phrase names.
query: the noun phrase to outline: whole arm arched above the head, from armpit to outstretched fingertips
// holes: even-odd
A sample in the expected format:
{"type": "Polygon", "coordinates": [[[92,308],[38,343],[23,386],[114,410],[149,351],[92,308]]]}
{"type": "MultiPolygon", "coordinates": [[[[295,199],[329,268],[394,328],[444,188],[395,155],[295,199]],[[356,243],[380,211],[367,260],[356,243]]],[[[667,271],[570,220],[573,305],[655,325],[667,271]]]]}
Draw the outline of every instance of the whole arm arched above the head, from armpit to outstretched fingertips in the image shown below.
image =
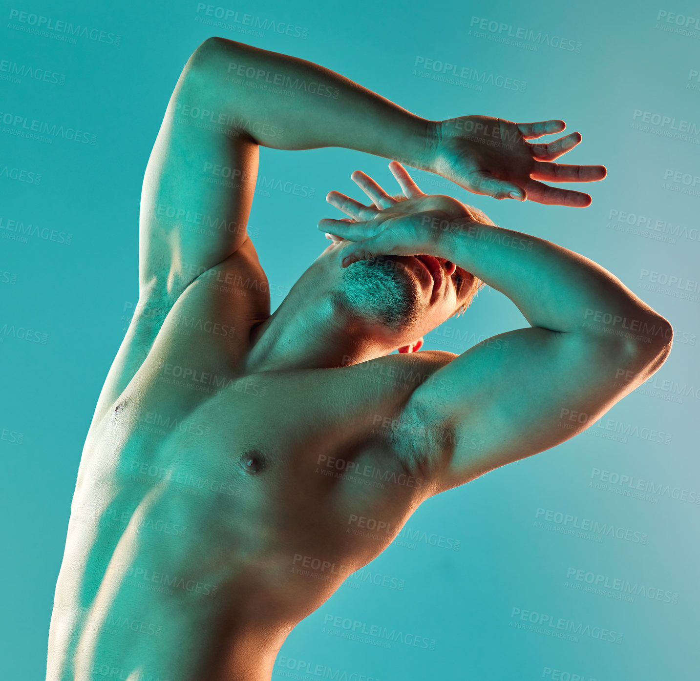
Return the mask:
{"type": "Polygon", "coordinates": [[[181,73],[146,169],[143,297],[167,308],[197,273],[246,240],[258,145],[346,147],[400,158],[499,198],[529,192],[548,203],[585,204],[588,195],[555,188],[538,198],[545,185],[535,177],[605,175],[601,166],[536,160],[552,160],[580,141],[577,133],[548,144],[525,141],[563,127],[559,120],[515,124],[484,116],[430,121],[318,64],[209,38],[181,73]]]}

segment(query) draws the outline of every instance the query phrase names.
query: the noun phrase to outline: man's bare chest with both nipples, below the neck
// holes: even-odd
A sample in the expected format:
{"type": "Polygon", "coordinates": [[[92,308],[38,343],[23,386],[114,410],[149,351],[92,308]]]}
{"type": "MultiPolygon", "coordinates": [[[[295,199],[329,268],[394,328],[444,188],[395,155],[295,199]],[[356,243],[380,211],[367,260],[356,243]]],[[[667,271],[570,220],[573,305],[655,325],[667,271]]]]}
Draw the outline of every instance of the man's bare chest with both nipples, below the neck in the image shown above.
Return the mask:
{"type": "Polygon", "coordinates": [[[420,433],[402,413],[442,358],[416,353],[245,373],[248,328],[241,333],[225,314],[204,314],[195,302],[172,311],[104,417],[106,428],[94,434],[123,450],[122,472],[177,464],[181,471],[169,473],[177,482],[226,471],[241,493],[267,496],[283,494],[284,485],[307,498],[345,489],[402,497],[426,489],[429,481],[402,458],[402,434],[420,433]]]}

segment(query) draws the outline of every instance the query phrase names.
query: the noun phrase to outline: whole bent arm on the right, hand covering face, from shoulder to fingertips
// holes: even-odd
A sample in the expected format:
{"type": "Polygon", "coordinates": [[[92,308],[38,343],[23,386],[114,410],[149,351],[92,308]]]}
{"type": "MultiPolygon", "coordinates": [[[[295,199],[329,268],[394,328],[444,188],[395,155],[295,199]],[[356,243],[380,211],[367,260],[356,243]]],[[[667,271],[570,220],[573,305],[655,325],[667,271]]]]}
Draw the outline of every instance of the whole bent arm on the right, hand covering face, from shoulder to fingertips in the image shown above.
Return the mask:
{"type": "MultiPolygon", "coordinates": [[[[350,241],[343,264],[444,258],[507,295],[531,324],[455,356],[402,410],[402,454],[435,472],[437,491],[567,440],[664,362],[671,325],[603,267],[489,224],[455,199],[416,192],[382,211],[365,207],[361,223],[322,220],[350,241]]],[[[339,195],[330,199],[344,205],[339,195]]]]}

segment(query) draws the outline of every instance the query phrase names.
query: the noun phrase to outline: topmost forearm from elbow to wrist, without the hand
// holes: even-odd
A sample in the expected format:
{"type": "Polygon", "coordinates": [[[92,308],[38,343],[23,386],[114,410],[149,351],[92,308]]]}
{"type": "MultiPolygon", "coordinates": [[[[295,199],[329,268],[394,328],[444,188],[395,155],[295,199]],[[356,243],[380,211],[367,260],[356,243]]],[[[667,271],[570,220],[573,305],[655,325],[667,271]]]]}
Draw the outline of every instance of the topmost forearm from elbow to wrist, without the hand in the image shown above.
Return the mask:
{"type": "Polygon", "coordinates": [[[195,55],[200,106],[261,146],[339,146],[423,167],[433,122],[304,59],[209,38],[195,55]]]}

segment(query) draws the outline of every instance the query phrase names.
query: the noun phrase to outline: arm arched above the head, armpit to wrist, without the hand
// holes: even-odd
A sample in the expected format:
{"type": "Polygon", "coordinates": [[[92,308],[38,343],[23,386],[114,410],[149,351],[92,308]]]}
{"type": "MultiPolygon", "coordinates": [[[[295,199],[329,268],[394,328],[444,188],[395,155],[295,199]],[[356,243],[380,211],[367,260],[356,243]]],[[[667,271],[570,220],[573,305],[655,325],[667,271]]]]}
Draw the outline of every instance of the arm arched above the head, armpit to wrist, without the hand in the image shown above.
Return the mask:
{"type": "Polygon", "coordinates": [[[144,299],[167,309],[246,241],[258,145],[426,157],[428,120],[323,66],[225,38],[190,57],[141,196],[144,299]]]}

